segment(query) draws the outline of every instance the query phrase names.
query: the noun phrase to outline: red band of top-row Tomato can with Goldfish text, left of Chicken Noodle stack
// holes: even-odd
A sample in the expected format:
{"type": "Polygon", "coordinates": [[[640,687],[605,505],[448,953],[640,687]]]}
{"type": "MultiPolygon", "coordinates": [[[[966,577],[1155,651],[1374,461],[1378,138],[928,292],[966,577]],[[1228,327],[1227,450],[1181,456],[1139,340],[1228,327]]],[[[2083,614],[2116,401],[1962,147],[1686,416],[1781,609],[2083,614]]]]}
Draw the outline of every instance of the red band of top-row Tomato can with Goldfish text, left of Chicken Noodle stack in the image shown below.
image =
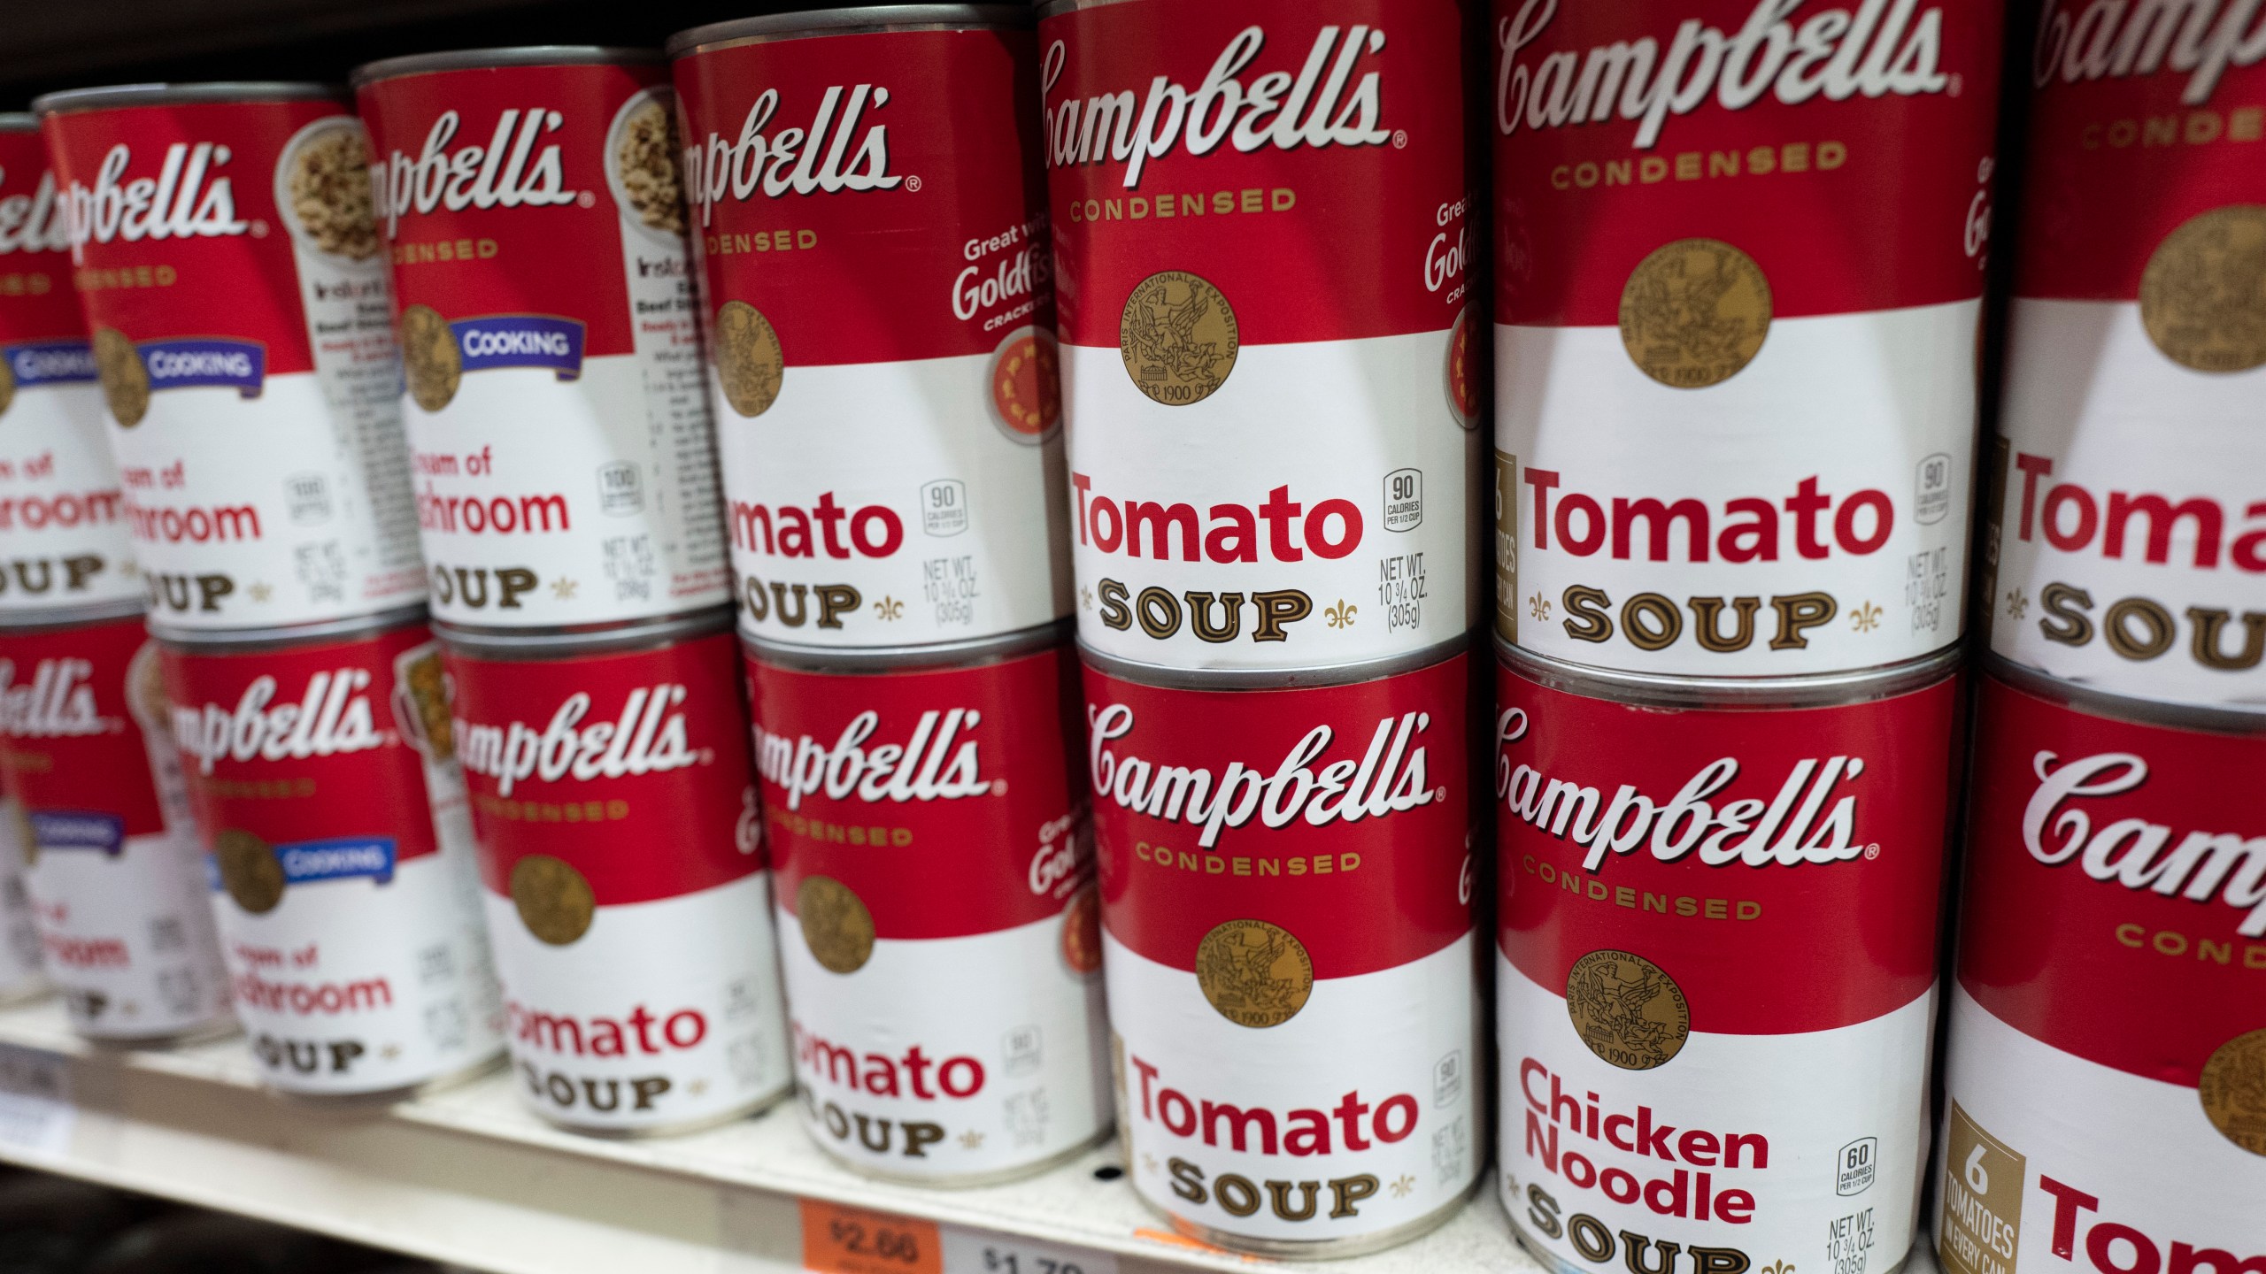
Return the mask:
{"type": "Polygon", "coordinates": [[[1468,220],[1484,75],[1468,16],[1140,0],[1040,20],[1063,340],[1115,347],[1165,270],[1219,288],[1242,345],[1448,331],[1464,297],[1439,261],[1468,220]]]}

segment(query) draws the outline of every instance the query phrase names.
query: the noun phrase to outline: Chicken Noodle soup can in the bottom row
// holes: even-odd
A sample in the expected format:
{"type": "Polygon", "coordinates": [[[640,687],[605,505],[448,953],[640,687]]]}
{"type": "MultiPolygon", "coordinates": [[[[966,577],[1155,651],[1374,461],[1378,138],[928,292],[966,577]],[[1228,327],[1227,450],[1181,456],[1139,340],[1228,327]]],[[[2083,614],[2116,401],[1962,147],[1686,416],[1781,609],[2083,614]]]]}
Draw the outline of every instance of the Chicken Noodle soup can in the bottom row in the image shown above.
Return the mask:
{"type": "Polygon", "coordinates": [[[1928,1156],[1958,651],[1786,682],[1498,660],[1518,1238],[1561,1269],[1897,1269],[1928,1156]]]}

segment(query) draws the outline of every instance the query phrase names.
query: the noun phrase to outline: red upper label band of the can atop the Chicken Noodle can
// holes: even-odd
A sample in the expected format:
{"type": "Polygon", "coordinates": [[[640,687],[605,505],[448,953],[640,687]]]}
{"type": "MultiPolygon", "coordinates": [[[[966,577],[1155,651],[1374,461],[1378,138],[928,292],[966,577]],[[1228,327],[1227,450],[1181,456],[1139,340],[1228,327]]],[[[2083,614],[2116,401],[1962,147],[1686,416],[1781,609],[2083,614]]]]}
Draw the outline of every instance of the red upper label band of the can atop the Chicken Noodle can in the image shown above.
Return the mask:
{"type": "Polygon", "coordinates": [[[1774,317],[1983,295],[1996,0],[1493,0],[1496,322],[1604,326],[1681,238],[1774,317]]]}

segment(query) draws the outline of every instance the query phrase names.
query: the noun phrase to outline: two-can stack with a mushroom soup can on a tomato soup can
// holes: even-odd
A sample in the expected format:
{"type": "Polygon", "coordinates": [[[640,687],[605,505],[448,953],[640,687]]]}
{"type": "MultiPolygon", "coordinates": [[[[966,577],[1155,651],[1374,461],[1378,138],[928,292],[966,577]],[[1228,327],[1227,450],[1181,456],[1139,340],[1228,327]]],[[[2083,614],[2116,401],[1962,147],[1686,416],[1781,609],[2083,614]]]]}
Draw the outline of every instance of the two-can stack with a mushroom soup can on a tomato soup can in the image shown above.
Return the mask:
{"type": "Polygon", "coordinates": [[[514,1084],[589,1133],[789,1086],[657,50],[353,75],[514,1084]]]}

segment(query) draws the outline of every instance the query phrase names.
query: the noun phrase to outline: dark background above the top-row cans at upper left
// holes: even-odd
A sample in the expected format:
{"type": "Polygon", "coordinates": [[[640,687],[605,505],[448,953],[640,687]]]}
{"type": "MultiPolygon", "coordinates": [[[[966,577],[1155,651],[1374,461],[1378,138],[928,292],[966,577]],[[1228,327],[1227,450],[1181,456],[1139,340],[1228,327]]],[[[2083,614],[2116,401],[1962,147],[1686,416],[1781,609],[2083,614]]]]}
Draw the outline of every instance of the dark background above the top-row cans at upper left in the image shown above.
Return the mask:
{"type": "MultiPolygon", "coordinates": [[[[870,0],[868,0],[870,2],[870,0]]],[[[0,0],[0,111],[54,88],[324,79],[408,52],[535,43],[659,48],[702,23],[861,0],[0,0]]]]}

